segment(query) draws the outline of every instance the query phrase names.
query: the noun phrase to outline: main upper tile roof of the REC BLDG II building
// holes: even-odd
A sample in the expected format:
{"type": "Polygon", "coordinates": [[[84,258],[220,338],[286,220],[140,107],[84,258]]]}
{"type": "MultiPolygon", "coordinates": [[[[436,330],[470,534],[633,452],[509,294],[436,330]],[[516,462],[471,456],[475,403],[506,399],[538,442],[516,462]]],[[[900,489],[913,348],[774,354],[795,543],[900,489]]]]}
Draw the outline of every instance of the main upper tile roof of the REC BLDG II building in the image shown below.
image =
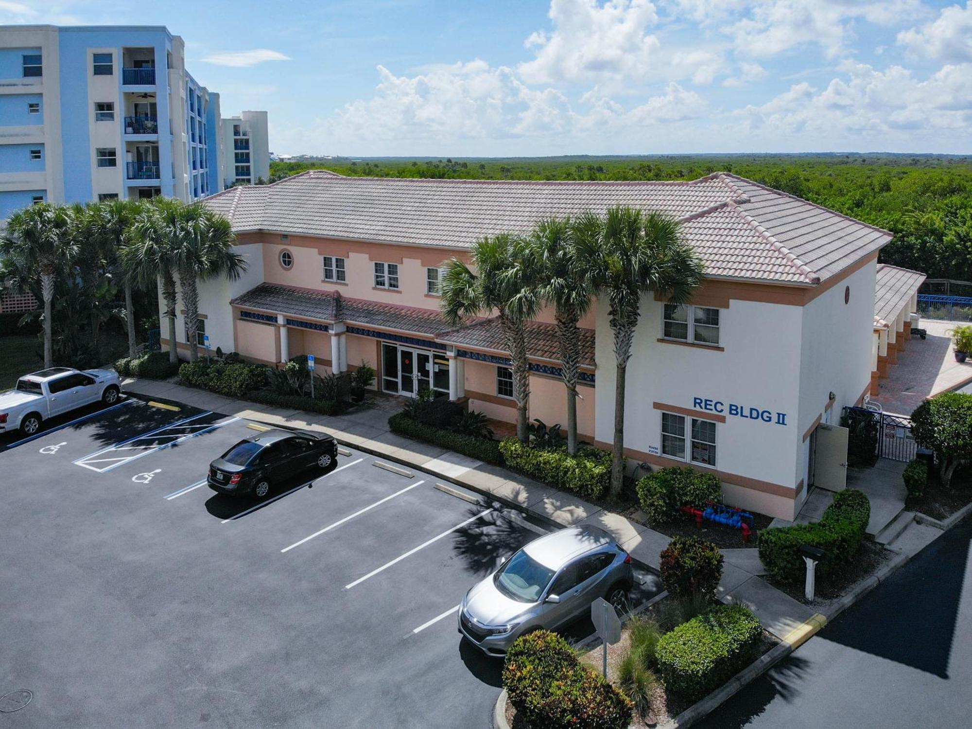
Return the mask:
{"type": "Polygon", "coordinates": [[[483,235],[526,232],[543,218],[659,210],[685,223],[708,275],[815,285],[877,251],[886,230],[735,175],[691,182],[539,182],[342,177],[312,170],[205,200],[237,232],[268,230],[468,248],[483,235]]]}

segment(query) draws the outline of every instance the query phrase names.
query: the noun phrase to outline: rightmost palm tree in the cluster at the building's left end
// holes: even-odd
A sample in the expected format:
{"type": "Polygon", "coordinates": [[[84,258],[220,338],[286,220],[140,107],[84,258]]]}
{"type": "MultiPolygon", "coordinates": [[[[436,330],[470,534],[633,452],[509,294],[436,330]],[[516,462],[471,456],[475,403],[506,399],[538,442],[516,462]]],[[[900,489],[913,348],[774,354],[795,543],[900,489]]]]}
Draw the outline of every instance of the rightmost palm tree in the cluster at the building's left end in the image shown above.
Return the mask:
{"type": "Polygon", "coordinates": [[[196,331],[199,328],[198,282],[226,276],[235,281],[246,270],[246,260],[233,251],[236,235],[229,221],[201,204],[182,209],[184,234],[175,249],[173,263],[179,274],[179,288],[186,307],[186,337],[189,359],[199,359],[196,331]]]}

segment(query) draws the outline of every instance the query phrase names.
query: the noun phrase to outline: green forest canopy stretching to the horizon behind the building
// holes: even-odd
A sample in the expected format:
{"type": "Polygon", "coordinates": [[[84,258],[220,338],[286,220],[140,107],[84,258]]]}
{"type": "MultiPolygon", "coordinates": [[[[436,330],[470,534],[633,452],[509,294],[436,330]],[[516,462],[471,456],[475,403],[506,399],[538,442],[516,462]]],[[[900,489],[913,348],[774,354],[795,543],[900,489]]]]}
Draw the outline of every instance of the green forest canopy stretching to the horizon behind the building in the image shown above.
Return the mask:
{"type": "Polygon", "coordinates": [[[276,181],[308,169],[364,177],[471,180],[693,180],[733,172],[894,233],[881,260],[930,278],[972,281],[972,157],[699,155],[511,158],[335,157],[270,164],[276,181]]]}

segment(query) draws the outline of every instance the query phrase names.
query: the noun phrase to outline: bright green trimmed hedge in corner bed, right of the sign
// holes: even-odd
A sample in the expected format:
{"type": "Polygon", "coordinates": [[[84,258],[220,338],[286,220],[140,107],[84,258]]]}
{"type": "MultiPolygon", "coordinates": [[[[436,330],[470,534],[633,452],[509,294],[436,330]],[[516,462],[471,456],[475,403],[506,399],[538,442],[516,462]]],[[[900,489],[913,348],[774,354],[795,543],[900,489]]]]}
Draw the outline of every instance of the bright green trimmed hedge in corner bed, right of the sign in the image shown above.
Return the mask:
{"type": "Polygon", "coordinates": [[[669,691],[697,701],[746,666],[761,635],[748,609],[716,606],[662,636],[655,650],[658,672],[669,691]]]}

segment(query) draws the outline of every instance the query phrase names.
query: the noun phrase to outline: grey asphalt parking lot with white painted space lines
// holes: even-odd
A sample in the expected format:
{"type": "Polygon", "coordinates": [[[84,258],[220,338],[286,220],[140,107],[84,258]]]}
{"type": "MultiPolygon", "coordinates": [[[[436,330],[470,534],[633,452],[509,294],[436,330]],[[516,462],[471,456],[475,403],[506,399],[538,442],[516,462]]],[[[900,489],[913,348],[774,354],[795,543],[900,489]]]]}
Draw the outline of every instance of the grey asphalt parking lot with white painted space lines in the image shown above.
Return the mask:
{"type": "Polygon", "coordinates": [[[456,608],[549,527],[354,449],[233,500],[202,479],[259,424],[174,405],[0,435],[0,695],[33,692],[3,726],[488,726],[502,662],[456,608]]]}

